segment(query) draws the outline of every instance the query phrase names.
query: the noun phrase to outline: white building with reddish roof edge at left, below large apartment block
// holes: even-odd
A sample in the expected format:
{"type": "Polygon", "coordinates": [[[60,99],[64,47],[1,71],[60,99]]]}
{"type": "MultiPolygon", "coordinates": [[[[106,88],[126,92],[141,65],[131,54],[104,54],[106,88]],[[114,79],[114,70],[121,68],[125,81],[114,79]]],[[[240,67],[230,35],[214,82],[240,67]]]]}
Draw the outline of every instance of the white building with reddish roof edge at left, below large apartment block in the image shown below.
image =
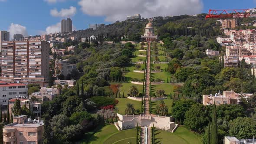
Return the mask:
{"type": "Polygon", "coordinates": [[[27,85],[0,81],[0,104],[3,106],[7,106],[8,101],[16,96],[27,97],[27,93],[27,85]]]}

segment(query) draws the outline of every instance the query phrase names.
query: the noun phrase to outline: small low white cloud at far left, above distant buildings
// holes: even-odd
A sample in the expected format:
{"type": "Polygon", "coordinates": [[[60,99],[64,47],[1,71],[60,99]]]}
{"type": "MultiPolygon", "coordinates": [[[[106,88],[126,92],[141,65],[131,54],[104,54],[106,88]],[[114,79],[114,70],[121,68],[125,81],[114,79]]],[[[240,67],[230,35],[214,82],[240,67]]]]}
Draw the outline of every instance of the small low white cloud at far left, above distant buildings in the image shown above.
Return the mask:
{"type": "Polygon", "coordinates": [[[26,31],[26,27],[25,26],[21,26],[19,24],[11,23],[8,31],[10,32],[10,39],[13,39],[13,35],[16,34],[16,33],[20,33],[24,37],[28,36],[28,33],[26,31]]]}

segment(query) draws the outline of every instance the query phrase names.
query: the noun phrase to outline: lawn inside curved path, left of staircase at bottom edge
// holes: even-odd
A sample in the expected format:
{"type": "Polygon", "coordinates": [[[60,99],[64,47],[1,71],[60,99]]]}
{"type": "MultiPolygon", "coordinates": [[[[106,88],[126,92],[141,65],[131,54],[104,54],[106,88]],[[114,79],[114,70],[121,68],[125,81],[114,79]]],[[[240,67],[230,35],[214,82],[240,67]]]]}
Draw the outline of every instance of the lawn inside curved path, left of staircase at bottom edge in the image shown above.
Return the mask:
{"type": "Polygon", "coordinates": [[[104,144],[127,144],[128,142],[130,142],[130,144],[135,144],[136,142],[135,128],[115,132],[104,141],[104,144]]]}

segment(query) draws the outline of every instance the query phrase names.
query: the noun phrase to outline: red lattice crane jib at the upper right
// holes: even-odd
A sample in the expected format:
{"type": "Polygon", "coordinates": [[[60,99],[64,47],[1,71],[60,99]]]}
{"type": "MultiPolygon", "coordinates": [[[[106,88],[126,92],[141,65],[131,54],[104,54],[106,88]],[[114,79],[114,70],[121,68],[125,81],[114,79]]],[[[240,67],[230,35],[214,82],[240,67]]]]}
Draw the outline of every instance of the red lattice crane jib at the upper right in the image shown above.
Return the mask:
{"type": "Polygon", "coordinates": [[[256,9],[241,10],[209,10],[205,19],[208,18],[245,18],[256,17],[256,9]]]}

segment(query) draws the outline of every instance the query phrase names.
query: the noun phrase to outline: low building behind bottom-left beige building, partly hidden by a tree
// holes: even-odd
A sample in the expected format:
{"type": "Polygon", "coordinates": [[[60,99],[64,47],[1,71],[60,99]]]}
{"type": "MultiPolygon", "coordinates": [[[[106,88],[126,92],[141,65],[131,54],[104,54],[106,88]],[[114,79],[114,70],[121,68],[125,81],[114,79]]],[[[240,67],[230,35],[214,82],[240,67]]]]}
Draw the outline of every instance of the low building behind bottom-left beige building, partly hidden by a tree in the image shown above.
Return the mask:
{"type": "Polygon", "coordinates": [[[17,97],[9,100],[10,115],[12,114],[12,108],[14,106],[16,99],[20,100],[21,107],[23,107],[23,105],[26,105],[28,109],[32,110],[35,116],[41,116],[41,103],[36,101],[31,101],[29,98],[26,98],[26,97],[17,97]]]}

